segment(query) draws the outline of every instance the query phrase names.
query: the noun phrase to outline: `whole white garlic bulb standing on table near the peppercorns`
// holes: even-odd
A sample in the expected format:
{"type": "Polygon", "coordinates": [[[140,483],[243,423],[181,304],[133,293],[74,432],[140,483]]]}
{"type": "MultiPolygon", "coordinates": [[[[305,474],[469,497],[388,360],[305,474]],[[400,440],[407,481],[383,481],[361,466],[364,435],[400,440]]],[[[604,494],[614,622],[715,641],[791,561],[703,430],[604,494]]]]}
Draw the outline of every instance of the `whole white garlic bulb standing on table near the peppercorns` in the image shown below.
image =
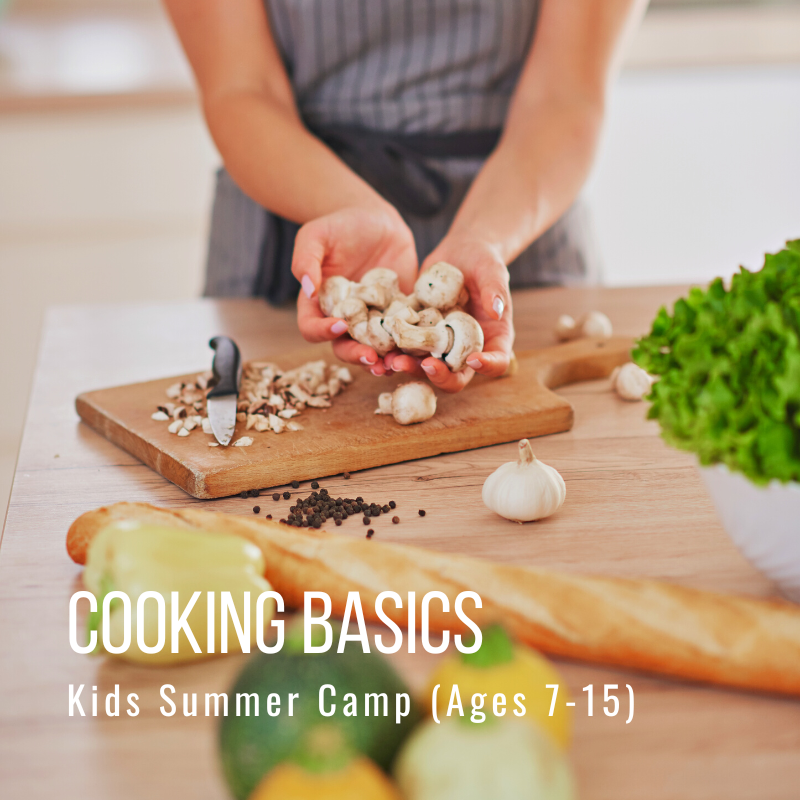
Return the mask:
{"type": "Polygon", "coordinates": [[[483,484],[483,502],[515,522],[531,522],[555,514],[567,496],[564,479],[533,455],[530,442],[519,443],[519,458],[498,467],[483,484]]]}

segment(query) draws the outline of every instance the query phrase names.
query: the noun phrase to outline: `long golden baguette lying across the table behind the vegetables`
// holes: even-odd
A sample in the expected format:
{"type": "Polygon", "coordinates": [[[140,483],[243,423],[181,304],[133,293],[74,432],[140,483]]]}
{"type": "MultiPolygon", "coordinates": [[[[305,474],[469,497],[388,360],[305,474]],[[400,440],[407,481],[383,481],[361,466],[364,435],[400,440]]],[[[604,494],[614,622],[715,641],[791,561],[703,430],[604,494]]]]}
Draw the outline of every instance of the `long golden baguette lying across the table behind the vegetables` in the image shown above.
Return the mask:
{"type": "MultiPolygon", "coordinates": [[[[653,580],[572,575],[494,564],[422,548],[378,543],[269,520],[196,509],[117,503],[79,517],[67,550],[85,563],[94,535],[110,522],[137,519],[243,536],[256,544],[265,577],[289,607],[304,591],[326,592],[341,616],[348,592],[359,592],[365,618],[379,622],[375,598],[416,592],[419,605],[444,592],[480,595],[478,624],[498,621],[519,640],[556,656],[628,667],[690,681],[800,696],[800,607],[714,594],[653,580]]],[[[458,630],[455,615],[431,604],[431,630],[458,630]]],[[[384,604],[395,622],[406,609],[384,604]]],[[[419,621],[419,609],[416,620],[419,621]]]]}

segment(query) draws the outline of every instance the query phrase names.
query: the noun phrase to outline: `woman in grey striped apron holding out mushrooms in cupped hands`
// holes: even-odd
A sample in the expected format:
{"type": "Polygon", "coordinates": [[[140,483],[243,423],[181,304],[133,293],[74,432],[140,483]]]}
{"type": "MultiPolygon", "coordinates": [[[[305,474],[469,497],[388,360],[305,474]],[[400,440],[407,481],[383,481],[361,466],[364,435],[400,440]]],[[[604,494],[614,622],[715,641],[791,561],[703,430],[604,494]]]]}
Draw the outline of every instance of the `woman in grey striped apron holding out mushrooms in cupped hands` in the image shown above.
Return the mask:
{"type": "Polygon", "coordinates": [[[207,294],[285,301],[291,271],[306,339],[458,391],[507,369],[510,287],[591,277],[573,203],[644,0],[165,2],[225,164],[207,294]],[[437,261],[485,334],[462,372],[380,359],[319,309],[328,275],[389,267],[408,292],[437,261]]]}

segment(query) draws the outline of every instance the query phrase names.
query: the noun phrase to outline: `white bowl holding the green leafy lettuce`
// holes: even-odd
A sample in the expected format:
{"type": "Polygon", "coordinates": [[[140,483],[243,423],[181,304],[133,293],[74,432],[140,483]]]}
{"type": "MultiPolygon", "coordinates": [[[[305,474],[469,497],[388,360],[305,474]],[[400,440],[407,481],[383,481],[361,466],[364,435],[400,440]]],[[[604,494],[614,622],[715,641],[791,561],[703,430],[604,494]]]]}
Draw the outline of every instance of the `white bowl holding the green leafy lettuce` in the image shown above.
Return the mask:
{"type": "Polygon", "coordinates": [[[756,486],[723,464],[700,474],[734,544],[800,603],[800,483],[756,486]]]}

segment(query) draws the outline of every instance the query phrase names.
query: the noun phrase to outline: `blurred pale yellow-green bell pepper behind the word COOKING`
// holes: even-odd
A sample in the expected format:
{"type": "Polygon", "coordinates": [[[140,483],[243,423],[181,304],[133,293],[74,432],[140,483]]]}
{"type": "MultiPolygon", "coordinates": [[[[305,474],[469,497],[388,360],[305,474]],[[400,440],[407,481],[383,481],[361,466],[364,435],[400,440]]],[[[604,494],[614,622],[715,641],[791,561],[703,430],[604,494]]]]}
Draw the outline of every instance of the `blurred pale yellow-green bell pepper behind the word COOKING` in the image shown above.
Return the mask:
{"type": "MultiPolygon", "coordinates": [[[[186,531],[134,521],[117,522],[104,528],[95,537],[87,554],[83,582],[95,595],[98,604],[97,612],[89,615],[89,630],[97,632],[97,650],[102,651],[103,598],[109,592],[120,591],[130,598],[131,636],[127,649],[114,655],[128,661],[153,665],[206,658],[221,652],[221,593],[231,593],[236,616],[244,629],[244,593],[249,592],[250,650],[253,651],[258,647],[258,597],[262,592],[271,590],[263,575],[264,557],[261,551],[238,536],[186,531]],[[137,615],[138,599],[144,592],[157,592],[164,598],[164,644],[156,653],[147,653],[139,646],[140,633],[143,633],[143,641],[147,647],[153,648],[159,641],[157,601],[147,599],[142,605],[144,619],[139,619],[137,615]],[[173,592],[178,593],[175,609],[172,608],[173,592]],[[173,616],[177,620],[183,615],[195,592],[200,592],[200,596],[186,615],[185,627],[191,630],[201,652],[195,652],[185,630],[181,630],[178,635],[178,652],[173,653],[173,616]],[[213,645],[208,636],[209,592],[213,592],[213,645]]],[[[120,647],[124,641],[123,601],[112,598],[108,608],[109,641],[112,646],[120,647]]],[[[267,598],[263,608],[265,626],[274,613],[275,601],[267,598]]],[[[241,652],[231,616],[226,610],[224,627],[227,651],[241,652]]]]}

